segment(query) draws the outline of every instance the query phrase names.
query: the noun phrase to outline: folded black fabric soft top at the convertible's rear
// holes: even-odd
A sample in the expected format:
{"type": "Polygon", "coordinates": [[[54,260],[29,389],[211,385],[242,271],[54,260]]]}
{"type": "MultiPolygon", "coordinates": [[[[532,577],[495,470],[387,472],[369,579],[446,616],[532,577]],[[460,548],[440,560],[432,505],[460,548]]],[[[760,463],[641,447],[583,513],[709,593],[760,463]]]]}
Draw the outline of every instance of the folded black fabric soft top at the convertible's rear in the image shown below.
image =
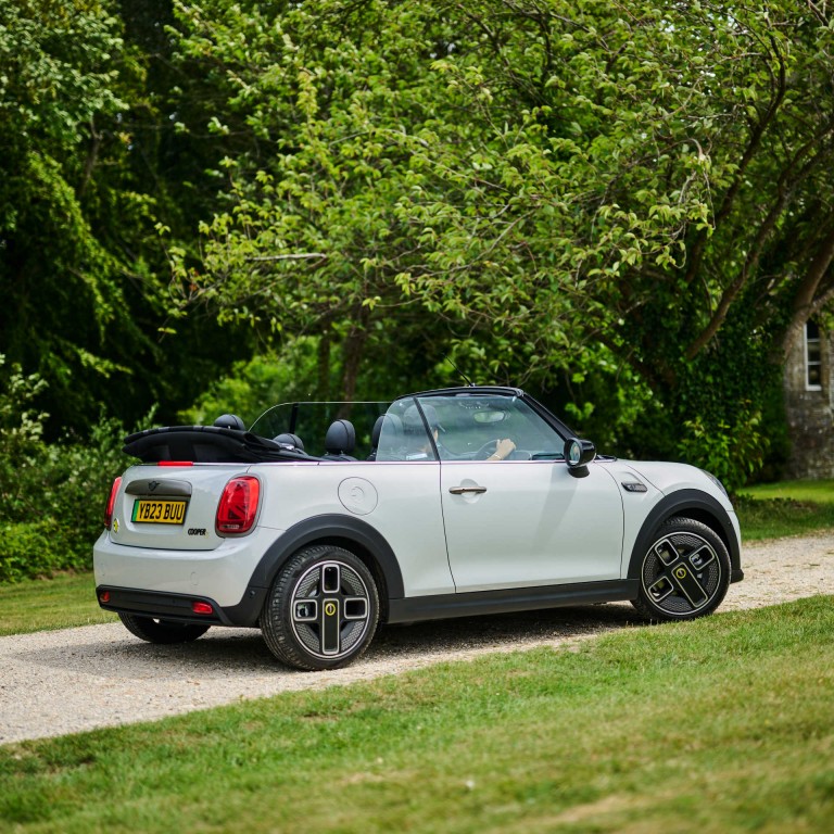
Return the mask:
{"type": "Polygon", "coordinates": [[[317,460],[292,446],[219,426],[166,426],[125,438],[122,450],[144,464],[182,460],[194,464],[260,464],[268,460],[317,460]]]}

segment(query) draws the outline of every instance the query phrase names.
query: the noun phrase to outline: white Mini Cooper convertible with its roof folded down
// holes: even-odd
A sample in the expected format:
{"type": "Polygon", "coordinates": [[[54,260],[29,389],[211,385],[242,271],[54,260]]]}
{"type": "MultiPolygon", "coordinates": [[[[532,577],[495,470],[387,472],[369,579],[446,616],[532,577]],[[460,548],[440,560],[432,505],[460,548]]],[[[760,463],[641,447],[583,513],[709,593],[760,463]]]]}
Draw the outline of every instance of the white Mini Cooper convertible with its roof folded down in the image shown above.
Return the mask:
{"type": "Polygon", "coordinates": [[[380,623],[614,601],[688,620],[744,576],[716,478],[599,456],[515,388],[289,403],[125,452],[96,594],[152,643],[253,627],[283,664],[330,669],[380,623]]]}

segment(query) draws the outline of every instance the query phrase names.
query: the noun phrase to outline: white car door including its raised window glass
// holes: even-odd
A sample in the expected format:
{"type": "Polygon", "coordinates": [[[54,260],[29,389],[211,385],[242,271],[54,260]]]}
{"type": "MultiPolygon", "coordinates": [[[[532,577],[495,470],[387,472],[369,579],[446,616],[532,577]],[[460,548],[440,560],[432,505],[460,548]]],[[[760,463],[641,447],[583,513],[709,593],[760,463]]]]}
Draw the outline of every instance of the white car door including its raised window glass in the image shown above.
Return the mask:
{"type": "Polygon", "coordinates": [[[619,488],[604,464],[568,468],[557,420],[520,392],[427,396],[419,404],[441,460],[456,591],[620,579],[619,488]],[[507,446],[506,459],[495,460],[507,446]]]}

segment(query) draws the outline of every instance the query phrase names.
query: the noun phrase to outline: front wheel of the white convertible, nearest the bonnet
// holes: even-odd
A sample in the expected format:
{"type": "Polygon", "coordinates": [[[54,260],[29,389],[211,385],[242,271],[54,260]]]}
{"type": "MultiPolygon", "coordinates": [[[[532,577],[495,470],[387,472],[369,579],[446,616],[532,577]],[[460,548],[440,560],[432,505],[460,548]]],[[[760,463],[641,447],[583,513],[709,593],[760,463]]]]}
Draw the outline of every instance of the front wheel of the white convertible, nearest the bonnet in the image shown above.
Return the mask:
{"type": "Polygon", "coordinates": [[[652,622],[694,620],[718,608],[730,585],[721,538],[692,518],[662,523],[640,558],[634,608],[652,622]]]}

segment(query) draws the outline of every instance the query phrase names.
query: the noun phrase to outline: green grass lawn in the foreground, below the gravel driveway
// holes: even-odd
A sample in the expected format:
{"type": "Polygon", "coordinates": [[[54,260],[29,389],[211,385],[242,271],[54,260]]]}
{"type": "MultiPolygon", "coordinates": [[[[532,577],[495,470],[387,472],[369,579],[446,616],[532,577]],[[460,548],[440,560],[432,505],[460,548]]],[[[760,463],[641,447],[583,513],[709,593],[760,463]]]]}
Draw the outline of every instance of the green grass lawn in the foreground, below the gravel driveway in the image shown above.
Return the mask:
{"type": "Polygon", "coordinates": [[[833,634],[817,597],[5,745],[0,827],[830,831],[833,634]]]}

